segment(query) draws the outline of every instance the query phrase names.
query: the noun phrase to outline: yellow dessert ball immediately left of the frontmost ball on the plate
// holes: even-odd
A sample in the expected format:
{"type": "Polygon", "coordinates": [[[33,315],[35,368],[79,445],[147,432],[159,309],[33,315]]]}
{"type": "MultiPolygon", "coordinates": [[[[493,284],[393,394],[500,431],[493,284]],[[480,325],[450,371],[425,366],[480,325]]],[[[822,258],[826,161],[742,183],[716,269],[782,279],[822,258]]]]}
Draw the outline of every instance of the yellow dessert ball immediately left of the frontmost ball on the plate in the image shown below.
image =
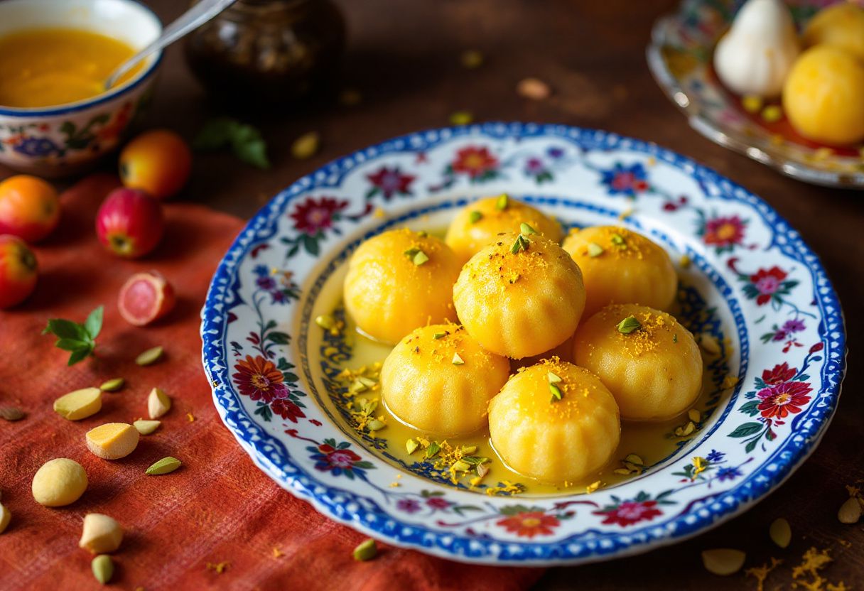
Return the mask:
{"type": "Polygon", "coordinates": [[[466,435],[486,425],[486,406],[509,375],[510,362],[463,327],[435,324],[414,330],[384,359],[381,394],[416,429],[466,435]]]}

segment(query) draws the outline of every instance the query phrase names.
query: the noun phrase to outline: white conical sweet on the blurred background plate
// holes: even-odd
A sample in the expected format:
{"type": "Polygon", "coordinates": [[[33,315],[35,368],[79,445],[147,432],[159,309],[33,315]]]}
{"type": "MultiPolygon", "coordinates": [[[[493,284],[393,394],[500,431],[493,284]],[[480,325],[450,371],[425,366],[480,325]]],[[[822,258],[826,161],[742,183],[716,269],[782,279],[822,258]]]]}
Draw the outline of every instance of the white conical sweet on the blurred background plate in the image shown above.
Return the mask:
{"type": "Polygon", "coordinates": [[[714,54],[717,75],[741,95],[776,97],[800,47],[781,0],[748,0],[714,54]]]}

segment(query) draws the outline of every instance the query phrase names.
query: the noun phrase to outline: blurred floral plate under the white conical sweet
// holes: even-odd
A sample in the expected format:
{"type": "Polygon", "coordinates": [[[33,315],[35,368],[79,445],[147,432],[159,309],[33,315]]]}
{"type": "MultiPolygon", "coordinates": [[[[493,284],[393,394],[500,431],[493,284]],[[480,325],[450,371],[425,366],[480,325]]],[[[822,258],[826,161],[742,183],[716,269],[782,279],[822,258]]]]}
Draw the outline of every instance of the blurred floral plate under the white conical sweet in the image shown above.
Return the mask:
{"type": "MultiPolygon", "coordinates": [[[[832,2],[786,0],[797,26],[832,2]]],[[[829,149],[797,136],[785,120],[766,124],[741,108],[711,67],[714,46],[743,0],[683,0],[676,14],[654,24],[648,65],[658,84],[687,115],[690,126],[721,146],[799,181],[829,187],[864,187],[864,157],[855,149],[829,149]]]]}

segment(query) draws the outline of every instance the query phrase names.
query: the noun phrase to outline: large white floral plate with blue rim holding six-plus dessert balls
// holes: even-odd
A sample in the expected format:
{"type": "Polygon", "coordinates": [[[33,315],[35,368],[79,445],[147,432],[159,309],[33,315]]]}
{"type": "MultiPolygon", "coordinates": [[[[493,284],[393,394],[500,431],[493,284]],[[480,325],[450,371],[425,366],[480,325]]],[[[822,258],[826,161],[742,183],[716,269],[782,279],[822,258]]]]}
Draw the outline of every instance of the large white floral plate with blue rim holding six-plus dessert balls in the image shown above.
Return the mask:
{"type": "Polygon", "coordinates": [[[667,149],[562,125],[424,131],[303,177],[240,233],[202,315],[213,401],[270,478],[359,531],[465,562],[596,561],[733,517],[816,447],[844,368],[834,289],[771,207],[667,149]],[[676,314],[707,359],[701,411],[665,435],[669,454],[592,493],[454,486],[422,454],[406,460],[404,442],[359,428],[346,404],[354,335],[314,321],[340,318],[340,273],[363,239],[442,228],[502,192],[565,226],[644,232],[681,261],[676,314]]]}

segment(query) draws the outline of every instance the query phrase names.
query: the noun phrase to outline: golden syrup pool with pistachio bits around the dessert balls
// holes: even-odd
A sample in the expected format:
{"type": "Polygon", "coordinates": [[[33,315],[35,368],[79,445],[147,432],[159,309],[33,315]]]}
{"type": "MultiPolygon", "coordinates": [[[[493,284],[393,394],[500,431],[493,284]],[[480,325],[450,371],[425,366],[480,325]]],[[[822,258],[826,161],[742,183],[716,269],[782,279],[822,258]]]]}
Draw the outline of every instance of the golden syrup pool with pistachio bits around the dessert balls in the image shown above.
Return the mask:
{"type": "MultiPolygon", "coordinates": [[[[699,435],[702,423],[719,402],[720,383],[727,375],[727,365],[722,359],[709,356],[708,365],[703,372],[702,391],[693,407],[695,412],[656,423],[622,421],[618,450],[613,459],[598,472],[575,482],[538,482],[505,465],[492,448],[488,429],[469,436],[442,437],[414,429],[387,410],[381,400],[380,388],[376,384],[376,364],[384,361],[392,347],[366,338],[359,333],[353,321],[346,318],[341,304],[341,286],[346,267],[347,264],[343,262],[327,277],[314,302],[309,319],[307,350],[310,357],[319,357],[321,361],[320,364],[312,362],[310,365],[323,370],[323,376],[314,377],[321,378],[323,382],[323,391],[327,395],[323,398],[326,398],[325,403],[328,410],[331,410],[331,416],[369,452],[391,463],[394,467],[394,479],[396,473],[407,470],[439,484],[486,494],[572,494],[591,491],[596,486],[613,486],[638,477],[645,470],[676,454],[692,437],[699,435]],[[314,318],[318,316],[332,319],[336,327],[328,330],[316,326],[314,318]],[[379,428],[381,423],[384,426],[379,428]],[[413,453],[409,453],[406,446],[409,440],[418,444],[413,453]],[[426,443],[435,443],[440,447],[439,451],[429,458],[426,443]],[[467,472],[454,472],[450,469],[453,461],[458,460],[461,455],[455,450],[461,448],[469,450],[464,455],[470,458],[488,458],[488,461],[483,461],[483,475],[480,480],[477,480],[479,474],[473,466],[467,472]]],[[[679,301],[687,302],[691,302],[696,293],[695,289],[686,285],[682,285],[679,291],[679,301]],[[684,297],[685,295],[688,297],[684,297]]],[[[680,304],[677,304],[677,307],[679,306],[680,304]]],[[[692,307],[691,303],[688,303],[688,306],[692,307]]],[[[711,314],[704,308],[697,308],[691,310],[689,315],[704,321],[707,315],[711,314]]],[[[688,315],[683,314],[680,309],[675,309],[672,313],[694,334],[701,332],[700,326],[693,326],[688,321],[688,315]]],[[[515,372],[516,365],[512,365],[512,368],[515,372]]],[[[394,482],[397,482],[397,479],[394,482]]]]}

